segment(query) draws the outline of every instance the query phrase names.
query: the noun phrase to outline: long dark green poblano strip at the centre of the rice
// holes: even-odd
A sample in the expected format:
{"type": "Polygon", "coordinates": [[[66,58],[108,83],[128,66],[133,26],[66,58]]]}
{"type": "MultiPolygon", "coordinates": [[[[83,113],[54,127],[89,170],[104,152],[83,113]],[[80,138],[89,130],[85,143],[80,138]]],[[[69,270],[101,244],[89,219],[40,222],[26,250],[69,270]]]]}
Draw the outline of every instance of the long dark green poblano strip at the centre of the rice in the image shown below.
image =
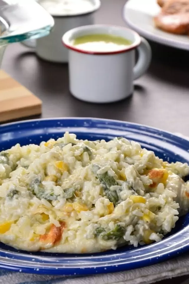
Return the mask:
{"type": "Polygon", "coordinates": [[[118,185],[118,182],[115,180],[115,178],[108,175],[108,172],[105,172],[103,174],[97,174],[97,171],[100,169],[101,167],[99,165],[92,165],[92,170],[94,174],[104,187],[105,195],[110,200],[110,202],[113,202],[113,204],[116,205],[119,202],[119,196],[117,191],[110,191],[110,187],[113,185],[118,185]]]}

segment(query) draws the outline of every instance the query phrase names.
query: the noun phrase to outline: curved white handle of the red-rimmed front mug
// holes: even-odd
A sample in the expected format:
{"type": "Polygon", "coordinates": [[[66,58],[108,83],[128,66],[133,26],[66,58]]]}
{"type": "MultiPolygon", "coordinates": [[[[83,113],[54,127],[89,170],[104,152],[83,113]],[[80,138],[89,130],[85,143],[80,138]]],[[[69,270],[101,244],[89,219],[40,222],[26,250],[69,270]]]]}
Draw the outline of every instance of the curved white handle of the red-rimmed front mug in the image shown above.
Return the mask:
{"type": "Polygon", "coordinates": [[[141,77],[148,69],[151,62],[151,47],[146,39],[141,37],[141,44],[137,47],[139,59],[133,69],[134,80],[141,77]]]}

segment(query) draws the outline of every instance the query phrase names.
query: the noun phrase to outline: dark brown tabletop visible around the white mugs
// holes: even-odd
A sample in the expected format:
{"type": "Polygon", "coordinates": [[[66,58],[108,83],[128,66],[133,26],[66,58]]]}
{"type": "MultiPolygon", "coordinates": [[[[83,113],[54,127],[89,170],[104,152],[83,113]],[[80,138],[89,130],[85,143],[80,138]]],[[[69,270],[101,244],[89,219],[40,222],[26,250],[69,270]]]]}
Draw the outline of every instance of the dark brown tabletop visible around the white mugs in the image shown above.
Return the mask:
{"type": "MultiPolygon", "coordinates": [[[[101,0],[96,23],[125,26],[125,0],[101,0]]],[[[142,1],[142,0],[141,0],[142,1]]],[[[101,117],[142,123],[189,136],[189,53],[151,43],[152,63],[135,82],[133,96],[113,104],[89,104],[69,93],[67,64],[38,59],[19,43],[6,50],[2,69],[43,101],[42,117],[101,117]]],[[[161,284],[181,283],[187,277],[161,284]]]]}

